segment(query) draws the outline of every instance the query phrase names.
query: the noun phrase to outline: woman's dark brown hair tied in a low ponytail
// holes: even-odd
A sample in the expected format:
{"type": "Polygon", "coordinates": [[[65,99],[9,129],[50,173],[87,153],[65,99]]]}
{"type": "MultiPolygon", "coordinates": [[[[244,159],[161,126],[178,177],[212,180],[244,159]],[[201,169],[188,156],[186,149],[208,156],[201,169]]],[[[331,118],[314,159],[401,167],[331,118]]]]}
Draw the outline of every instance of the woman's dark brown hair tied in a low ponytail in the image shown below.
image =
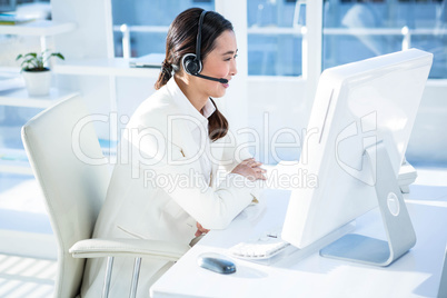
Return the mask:
{"type": "MultiPolygon", "coordinates": [[[[180,70],[181,58],[187,53],[196,53],[199,18],[203,9],[191,8],[181,12],[172,21],[166,38],[166,59],[156,82],[156,89],[163,87],[172,74],[180,70]]],[[[216,39],[226,30],[234,30],[230,21],[216,11],[205,14],[201,27],[200,56],[203,61],[210,51],[216,48],[216,39]]],[[[208,136],[212,141],[225,137],[228,132],[228,121],[218,110],[208,118],[208,136]]]]}

